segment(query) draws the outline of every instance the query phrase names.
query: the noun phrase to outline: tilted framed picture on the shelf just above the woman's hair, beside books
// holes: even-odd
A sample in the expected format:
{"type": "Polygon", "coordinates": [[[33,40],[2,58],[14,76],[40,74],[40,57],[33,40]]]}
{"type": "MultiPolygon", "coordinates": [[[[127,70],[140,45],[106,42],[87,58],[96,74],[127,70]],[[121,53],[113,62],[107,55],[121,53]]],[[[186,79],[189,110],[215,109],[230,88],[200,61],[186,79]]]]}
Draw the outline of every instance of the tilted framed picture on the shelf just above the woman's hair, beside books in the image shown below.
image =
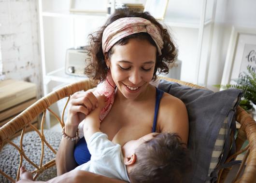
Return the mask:
{"type": "Polygon", "coordinates": [[[149,12],[158,20],[163,20],[168,5],[168,0],[147,0],[144,12],[149,12]]]}

